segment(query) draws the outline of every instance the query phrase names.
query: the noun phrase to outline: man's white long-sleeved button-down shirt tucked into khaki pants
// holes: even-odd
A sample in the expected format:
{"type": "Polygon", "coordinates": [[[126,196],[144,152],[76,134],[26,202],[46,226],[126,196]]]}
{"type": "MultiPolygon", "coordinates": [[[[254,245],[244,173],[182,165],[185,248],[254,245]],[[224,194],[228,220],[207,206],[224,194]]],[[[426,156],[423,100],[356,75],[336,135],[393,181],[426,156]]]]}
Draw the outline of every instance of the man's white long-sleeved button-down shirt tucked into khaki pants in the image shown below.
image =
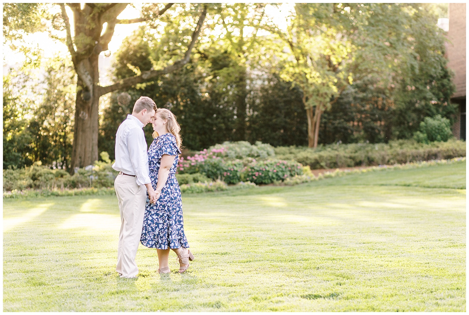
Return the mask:
{"type": "Polygon", "coordinates": [[[148,155],[144,124],[137,117],[127,115],[116,133],[113,169],[137,176],[137,184],[151,183],[148,170],[148,155]]]}

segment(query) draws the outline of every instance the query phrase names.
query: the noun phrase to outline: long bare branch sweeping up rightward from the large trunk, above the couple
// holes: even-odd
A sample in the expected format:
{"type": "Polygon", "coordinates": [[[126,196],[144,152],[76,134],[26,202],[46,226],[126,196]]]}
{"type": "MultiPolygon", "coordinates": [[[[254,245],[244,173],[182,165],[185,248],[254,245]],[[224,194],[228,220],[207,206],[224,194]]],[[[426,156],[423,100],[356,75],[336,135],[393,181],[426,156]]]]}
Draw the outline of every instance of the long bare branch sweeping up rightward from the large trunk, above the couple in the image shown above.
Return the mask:
{"type": "Polygon", "coordinates": [[[189,58],[190,58],[192,48],[194,47],[194,45],[197,41],[197,38],[200,34],[200,30],[202,29],[202,24],[204,23],[205,15],[207,15],[207,5],[206,4],[204,5],[204,9],[202,10],[201,15],[199,16],[199,20],[197,21],[196,29],[192,33],[191,41],[190,41],[189,46],[187,47],[186,53],[184,54],[184,58],[182,58],[178,61],[175,61],[172,65],[166,66],[165,68],[163,68],[161,70],[144,71],[139,76],[128,77],[128,78],[122,79],[122,80],[118,81],[117,83],[115,83],[113,85],[98,86],[98,91],[97,91],[98,94],[99,95],[104,95],[106,93],[110,93],[110,92],[113,92],[113,91],[116,91],[116,90],[128,88],[130,86],[133,86],[133,85],[136,85],[136,84],[139,84],[139,83],[144,83],[144,82],[148,81],[151,78],[159,77],[161,75],[174,72],[177,69],[181,69],[182,66],[184,66],[186,63],[189,62],[189,58]]]}

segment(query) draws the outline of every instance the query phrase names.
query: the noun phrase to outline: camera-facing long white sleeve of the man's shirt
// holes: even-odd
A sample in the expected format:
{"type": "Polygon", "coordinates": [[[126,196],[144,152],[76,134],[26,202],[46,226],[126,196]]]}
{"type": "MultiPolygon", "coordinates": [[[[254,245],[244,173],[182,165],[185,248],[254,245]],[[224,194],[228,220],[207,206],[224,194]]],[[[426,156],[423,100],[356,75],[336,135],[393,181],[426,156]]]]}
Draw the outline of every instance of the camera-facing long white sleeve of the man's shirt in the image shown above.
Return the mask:
{"type": "Polygon", "coordinates": [[[129,149],[130,162],[137,176],[137,184],[149,184],[150,172],[148,170],[148,155],[144,131],[140,128],[130,129],[127,135],[127,148],[129,149]]]}

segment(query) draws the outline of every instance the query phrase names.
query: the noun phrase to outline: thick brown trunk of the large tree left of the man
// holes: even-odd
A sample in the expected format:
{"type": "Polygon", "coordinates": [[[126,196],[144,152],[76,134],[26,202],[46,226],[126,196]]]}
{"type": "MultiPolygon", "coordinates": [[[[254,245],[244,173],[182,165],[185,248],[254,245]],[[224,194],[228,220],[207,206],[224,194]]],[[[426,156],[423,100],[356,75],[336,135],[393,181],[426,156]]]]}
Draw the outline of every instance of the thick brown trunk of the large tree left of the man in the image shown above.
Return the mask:
{"type": "Polygon", "coordinates": [[[98,160],[99,95],[96,86],[99,82],[98,55],[89,59],[93,91],[78,76],[75,109],[75,128],[71,170],[93,164],[98,160]]]}

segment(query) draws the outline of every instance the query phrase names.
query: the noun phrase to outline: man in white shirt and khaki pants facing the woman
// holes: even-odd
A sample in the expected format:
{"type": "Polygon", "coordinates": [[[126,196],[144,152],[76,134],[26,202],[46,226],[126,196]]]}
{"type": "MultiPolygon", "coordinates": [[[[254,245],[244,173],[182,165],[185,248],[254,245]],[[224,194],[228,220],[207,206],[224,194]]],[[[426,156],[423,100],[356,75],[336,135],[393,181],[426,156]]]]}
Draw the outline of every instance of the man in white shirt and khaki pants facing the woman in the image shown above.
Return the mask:
{"type": "Polygon", "coordinates": [[[132,115],[119,126],[116,133],[115,163],[119,171],[114,188],[121,212],[121,231],[117,247],[116,271],[121,278],[135,278],[135,263],[145,214],[146,192],[151,203],[156,202],[156,192],[151,186],[148,170],[147,144],[143,127],[153,121],[156,104],[142,96],[134,105],[132,115]]]}

